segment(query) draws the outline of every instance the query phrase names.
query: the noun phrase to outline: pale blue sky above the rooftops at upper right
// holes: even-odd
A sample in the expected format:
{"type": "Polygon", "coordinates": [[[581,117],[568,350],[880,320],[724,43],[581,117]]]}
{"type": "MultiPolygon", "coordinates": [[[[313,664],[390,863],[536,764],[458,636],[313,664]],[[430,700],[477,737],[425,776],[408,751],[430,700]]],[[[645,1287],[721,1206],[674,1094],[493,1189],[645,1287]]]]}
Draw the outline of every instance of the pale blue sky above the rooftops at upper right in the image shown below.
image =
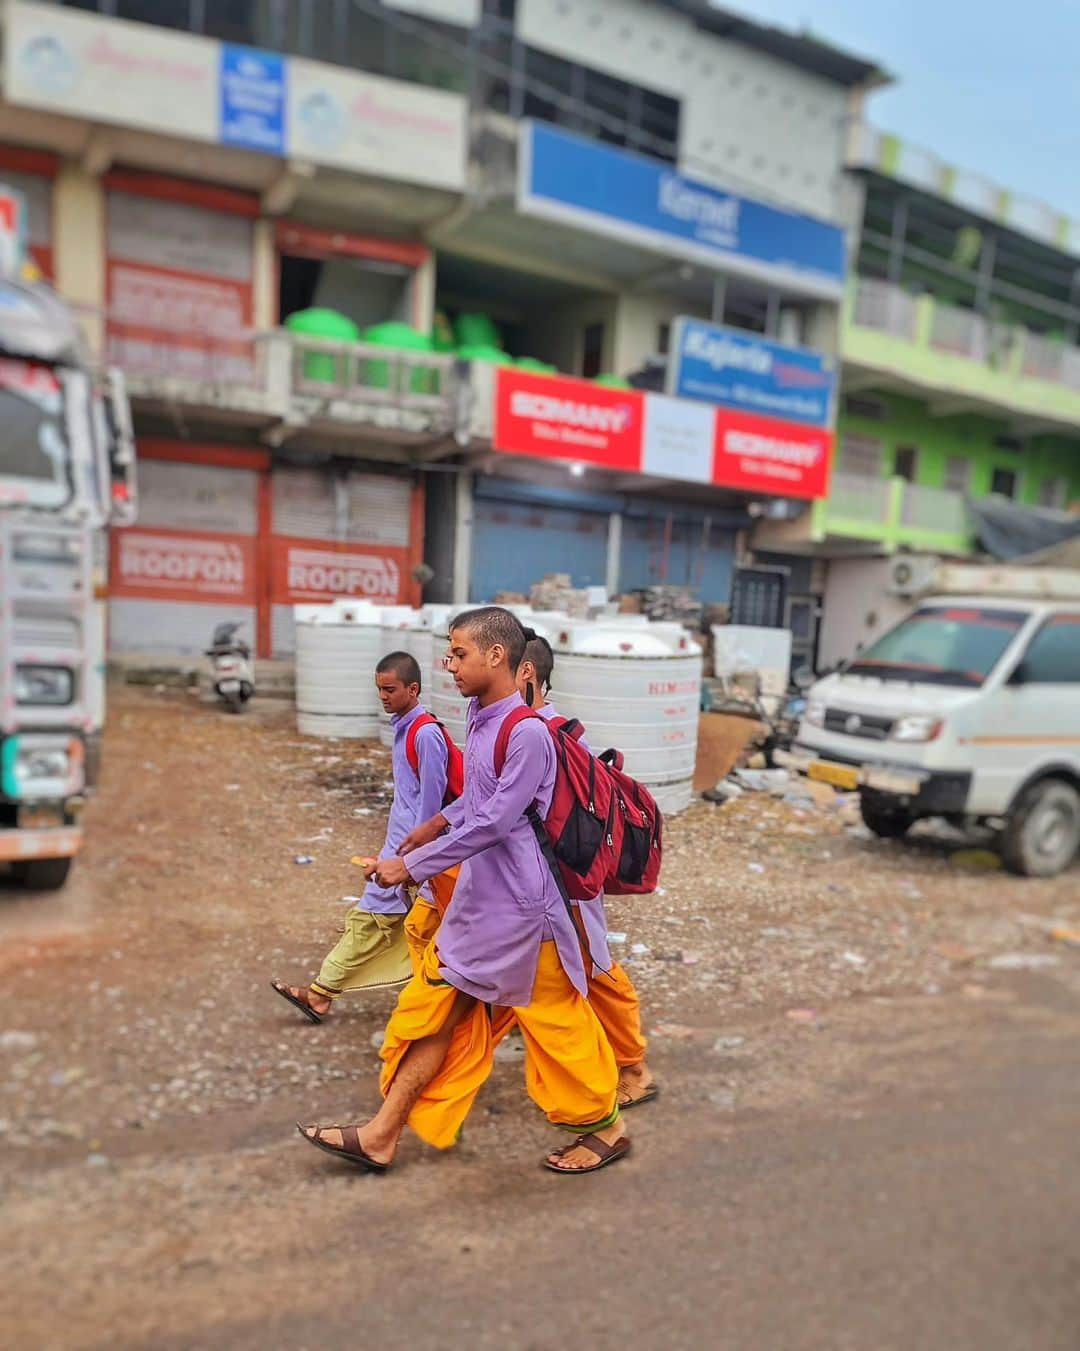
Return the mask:
{"type": "Polygon", "coordinates": [[[896,84],[869,120],[1080,216],[1080,0],[725,0],[807,27],[896,84]]]}

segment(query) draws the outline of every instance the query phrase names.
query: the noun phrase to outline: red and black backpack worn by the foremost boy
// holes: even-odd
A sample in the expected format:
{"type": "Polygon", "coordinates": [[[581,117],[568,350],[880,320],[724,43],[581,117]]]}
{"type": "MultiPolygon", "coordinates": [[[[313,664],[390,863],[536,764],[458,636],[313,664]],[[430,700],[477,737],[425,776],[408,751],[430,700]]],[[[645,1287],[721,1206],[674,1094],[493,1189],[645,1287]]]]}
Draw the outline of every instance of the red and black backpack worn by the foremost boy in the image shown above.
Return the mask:
{"type": "Polygon", "coordinates": [[[654,892],[660,878],[664,817],[652,793],[623,773],[619,751],[591,755],[576,719],[539,717],[526,705],[503,719],[495,740],[495,773],[501,774],[510,734],[527,717],[545,724],[556,743],[556,786],[547,819],[535,807],[529,820],[561,890],[591,901],[602,892],[654,892]]]}

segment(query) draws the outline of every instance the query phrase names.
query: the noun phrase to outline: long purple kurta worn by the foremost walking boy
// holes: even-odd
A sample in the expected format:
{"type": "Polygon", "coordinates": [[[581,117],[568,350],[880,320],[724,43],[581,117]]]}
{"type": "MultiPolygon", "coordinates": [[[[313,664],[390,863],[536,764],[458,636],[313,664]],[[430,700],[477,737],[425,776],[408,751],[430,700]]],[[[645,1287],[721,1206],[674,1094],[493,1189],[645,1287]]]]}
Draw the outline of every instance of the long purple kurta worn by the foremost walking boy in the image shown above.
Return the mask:
{"type": "Polygon", "coordinates": [[[535,802],[543,817],[551,802],[556,750],[547,728],[535,719],[519,723],[503,773],[495,774],[499,728],[522,703],[516,693],[487,708],[472,701],[465,793],[443,809],[450,831],[404,861],[418,881],[461,863],[435,940],[439,969],[457,989],[507,1008],[531,1002],[546,939],[554,939],[574,989],[588,990],[577,929],[524,815],[535,802]]]}

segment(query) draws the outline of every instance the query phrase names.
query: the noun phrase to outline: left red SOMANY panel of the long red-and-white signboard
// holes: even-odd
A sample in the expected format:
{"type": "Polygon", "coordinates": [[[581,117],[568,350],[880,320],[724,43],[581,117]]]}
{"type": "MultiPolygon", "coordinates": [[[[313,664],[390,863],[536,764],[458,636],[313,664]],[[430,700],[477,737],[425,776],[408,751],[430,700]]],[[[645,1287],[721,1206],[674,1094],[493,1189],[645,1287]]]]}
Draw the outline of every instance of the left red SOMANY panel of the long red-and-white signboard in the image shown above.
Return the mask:
{"type": "Polygon", "coordinates": [[[492,444],[514,455],[641,471],[645,396],[588,380],[496,373],[492,444]]]}

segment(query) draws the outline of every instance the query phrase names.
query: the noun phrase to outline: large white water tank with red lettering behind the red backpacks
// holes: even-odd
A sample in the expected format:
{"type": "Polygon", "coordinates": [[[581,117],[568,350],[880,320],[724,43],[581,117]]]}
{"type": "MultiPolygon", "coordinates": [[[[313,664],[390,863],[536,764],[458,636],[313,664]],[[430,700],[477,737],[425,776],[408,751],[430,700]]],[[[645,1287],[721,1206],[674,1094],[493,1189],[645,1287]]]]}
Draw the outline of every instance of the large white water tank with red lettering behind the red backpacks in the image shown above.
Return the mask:
{"type": "Polygon", "coordinates": [[[551,701],[577,717],[595,753],[618,747],[626,773],[665,815],[693,797],[702,651],[680,624],[572,621],[553,639],[551,701]]]}

